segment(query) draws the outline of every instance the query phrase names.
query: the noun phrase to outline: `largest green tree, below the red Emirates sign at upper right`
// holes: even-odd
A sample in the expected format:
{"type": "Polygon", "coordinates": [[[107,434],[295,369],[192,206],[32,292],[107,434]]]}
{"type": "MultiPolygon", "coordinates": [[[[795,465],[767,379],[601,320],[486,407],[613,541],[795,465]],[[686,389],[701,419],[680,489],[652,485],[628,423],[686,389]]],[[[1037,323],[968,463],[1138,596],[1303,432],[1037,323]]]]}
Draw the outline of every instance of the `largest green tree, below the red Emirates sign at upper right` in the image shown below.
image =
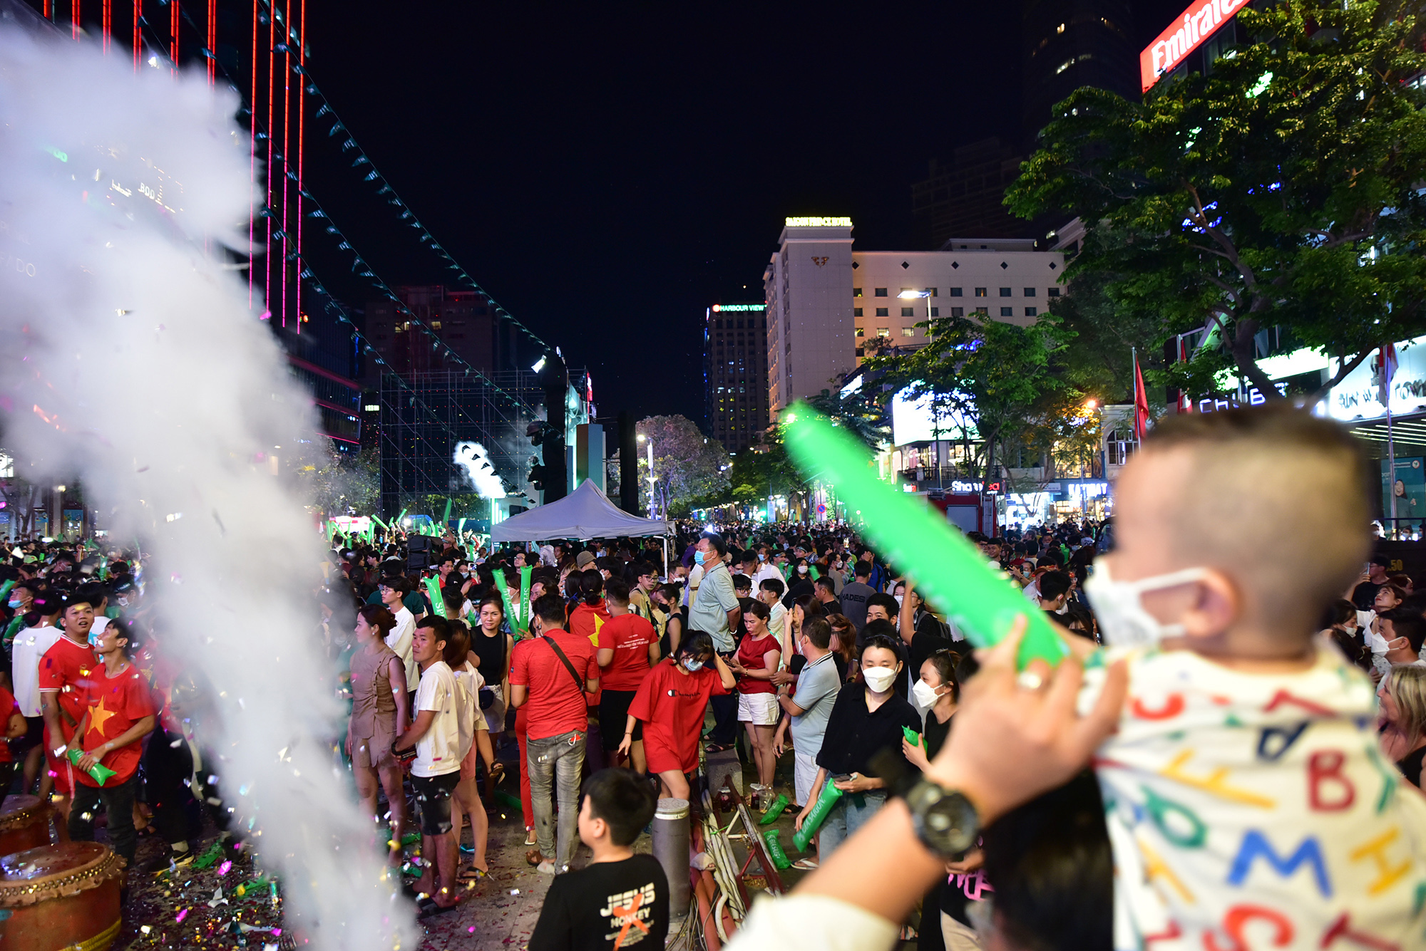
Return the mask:
{"type": "MultiPolygon", "coordinates": [[[[1162,343],[1211,333],[1171,380],[1231,369],[1266,397],[1258,335],[1343,360],[1423,329],[1426,71],[1419,0],[1283,0],[1242,10],[1252,41],[1142,103],[1081,88],[1007,194],[1021,216],[1079,215],[1067,276],[1162,343]]],[[[1139,329],[1135,330],[1135,333],[1139,329]]]]}

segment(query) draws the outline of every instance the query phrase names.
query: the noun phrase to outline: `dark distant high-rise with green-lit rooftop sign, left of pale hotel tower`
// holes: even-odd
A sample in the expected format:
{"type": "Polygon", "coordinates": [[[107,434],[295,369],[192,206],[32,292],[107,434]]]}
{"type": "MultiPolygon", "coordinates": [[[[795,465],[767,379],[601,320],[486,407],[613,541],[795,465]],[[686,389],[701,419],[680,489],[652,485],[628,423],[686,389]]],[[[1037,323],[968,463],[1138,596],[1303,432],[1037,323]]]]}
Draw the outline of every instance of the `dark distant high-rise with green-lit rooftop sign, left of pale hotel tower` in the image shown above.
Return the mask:
{"type": "Polygon", "coordinates": [[[730,453],[767,429],[767,305],[714,303],[703,316],[703,406],[709,436],[730,453]]]}

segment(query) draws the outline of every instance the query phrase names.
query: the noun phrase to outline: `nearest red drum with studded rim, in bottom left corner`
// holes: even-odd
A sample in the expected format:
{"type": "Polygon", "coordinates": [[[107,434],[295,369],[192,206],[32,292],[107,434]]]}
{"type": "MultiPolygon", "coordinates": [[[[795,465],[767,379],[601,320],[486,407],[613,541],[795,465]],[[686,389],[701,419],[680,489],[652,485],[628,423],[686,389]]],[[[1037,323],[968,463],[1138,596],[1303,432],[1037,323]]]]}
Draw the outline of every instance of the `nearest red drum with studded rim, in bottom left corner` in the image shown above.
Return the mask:
{"type": "Polygon", "coordinates": [[[96,841],[0,858],[0,948],[107,951],[118,935],[124,860],[96,841]]]}

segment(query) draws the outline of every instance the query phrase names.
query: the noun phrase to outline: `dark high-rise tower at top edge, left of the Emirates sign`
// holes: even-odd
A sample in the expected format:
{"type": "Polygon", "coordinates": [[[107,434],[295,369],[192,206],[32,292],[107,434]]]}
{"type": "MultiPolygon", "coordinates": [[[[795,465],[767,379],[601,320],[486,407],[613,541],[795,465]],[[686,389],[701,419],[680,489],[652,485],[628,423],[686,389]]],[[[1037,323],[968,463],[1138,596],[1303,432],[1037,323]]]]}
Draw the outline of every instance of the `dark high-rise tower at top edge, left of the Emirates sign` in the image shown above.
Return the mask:
{"type": "Polygon", "coordinates": [[[1020,24],[1025,154],[1051,107],[1082,85],[1139,98],[1128,0],[1024,0],[1020,24]]]}

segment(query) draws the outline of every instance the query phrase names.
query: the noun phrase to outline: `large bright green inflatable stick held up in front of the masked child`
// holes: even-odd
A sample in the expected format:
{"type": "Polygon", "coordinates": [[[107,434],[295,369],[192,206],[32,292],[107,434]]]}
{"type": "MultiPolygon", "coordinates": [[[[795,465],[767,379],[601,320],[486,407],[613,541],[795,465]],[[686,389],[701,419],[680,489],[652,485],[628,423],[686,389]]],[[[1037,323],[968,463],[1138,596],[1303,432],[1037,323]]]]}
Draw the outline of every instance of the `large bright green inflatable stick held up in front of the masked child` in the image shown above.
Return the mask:
{"type": "Polygon", "coordinates": [[[914,577],[917,588],[945,608],[971,643],[994,646],[1015,618],[1025,618],[1018,666],[1024,669],[1035,658],[1051,665],[1064,659],[1068,649],[1045,612],[998,577],[940,513],[877,478],[860,441],[806,403],[794,403],[783,419],[783,440],[803,476],[836,485],[838,498],[861,515],[861,531],[877,551],[914,577]]]}

